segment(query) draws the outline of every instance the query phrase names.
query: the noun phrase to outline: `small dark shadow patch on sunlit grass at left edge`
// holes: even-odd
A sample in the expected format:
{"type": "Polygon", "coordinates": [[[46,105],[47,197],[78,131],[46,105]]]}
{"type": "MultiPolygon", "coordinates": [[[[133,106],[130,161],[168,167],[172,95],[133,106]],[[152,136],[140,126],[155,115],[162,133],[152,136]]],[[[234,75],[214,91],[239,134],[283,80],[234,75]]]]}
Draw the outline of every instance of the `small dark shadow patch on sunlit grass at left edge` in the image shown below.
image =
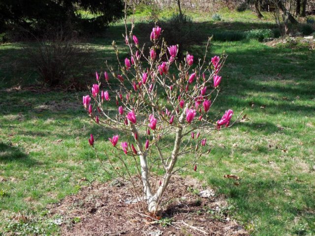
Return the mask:
{"type": "Polygon", "coordinates": [[[19,148],[0,143],[0,163],[7,164],[12,162],[23,164],[28,167],[38,164],[19,148]]]}

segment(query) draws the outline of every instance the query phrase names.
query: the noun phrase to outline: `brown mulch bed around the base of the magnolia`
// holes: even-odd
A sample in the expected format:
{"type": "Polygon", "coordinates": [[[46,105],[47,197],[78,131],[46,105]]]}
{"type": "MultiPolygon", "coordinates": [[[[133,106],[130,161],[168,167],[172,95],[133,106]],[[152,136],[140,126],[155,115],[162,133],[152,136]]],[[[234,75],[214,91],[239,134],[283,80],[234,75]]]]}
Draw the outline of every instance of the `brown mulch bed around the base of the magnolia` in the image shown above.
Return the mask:
{"type": "Polygon", "coordinates": [[[171,179],[161,202],[160,221],[129,203],[134,199],[130,190],[124,184],[94,182],[49,208],[64,236],[249,235],[230,220],[224,196],[216,196],[211,189],[208,197],[199,196],[205,189],[196,179],[171,179]]]}

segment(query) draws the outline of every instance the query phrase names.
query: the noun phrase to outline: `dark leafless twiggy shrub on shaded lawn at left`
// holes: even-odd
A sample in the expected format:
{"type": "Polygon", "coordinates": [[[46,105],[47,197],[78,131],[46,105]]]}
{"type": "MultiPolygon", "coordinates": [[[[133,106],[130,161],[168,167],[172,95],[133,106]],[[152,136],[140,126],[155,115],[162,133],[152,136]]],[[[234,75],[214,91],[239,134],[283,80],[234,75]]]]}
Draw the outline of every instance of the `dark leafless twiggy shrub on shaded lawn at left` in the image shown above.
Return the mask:
{"type": "Polygon", "coordinates": [[[87,65],[91,48],[74,33],[56,30],[35,45],[25,47],[31,66],[48,86],[58,86],[71,80],[78,69],[87,65]]]}

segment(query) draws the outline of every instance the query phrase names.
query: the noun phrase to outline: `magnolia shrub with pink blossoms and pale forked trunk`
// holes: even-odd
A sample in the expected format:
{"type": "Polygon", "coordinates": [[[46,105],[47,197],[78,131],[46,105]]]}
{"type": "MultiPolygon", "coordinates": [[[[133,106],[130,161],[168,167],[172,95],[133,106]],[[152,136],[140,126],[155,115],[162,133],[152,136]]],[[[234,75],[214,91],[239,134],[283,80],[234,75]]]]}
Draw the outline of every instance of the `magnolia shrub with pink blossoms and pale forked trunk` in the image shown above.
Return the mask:
{"type": "MultiPolygon", "coordinates": [[[[219,72],[225,61],[225,56],[207,60],[210,39],[202,59],[187,54],[179,61],[179,46],[167,46],[161,28],[153,28],[152,46],[146,55],[145,46],[140,47],[132,33],[133,27],[130,31],[126,28],[124,35],[129,55],[120,61],[113,42],[119,69],[115,71],[106,62],[108,71],[96,72],[97,83],[91,96],[83,96],[83,105],[97,124],[115,132],[108,139],[113,150],[104,150],[113,171],[132,183],[136,198],[146,203],[149,212],[156,212],[172,175],[189,167],[196,171],[198,158],[210,150],[207,135],[230,126],[233,111],[226,111],[220,119],[209,115],[220,90],[219,72]],[[113,99],[115,112],[107,105],[113,99]],[[186,155],[190,161],[177,165],[186,155]],[[137,177],[141,189],[136,187],[137,177]]],[[[91,134],[93,148],[94,142],[91,134]]]]}

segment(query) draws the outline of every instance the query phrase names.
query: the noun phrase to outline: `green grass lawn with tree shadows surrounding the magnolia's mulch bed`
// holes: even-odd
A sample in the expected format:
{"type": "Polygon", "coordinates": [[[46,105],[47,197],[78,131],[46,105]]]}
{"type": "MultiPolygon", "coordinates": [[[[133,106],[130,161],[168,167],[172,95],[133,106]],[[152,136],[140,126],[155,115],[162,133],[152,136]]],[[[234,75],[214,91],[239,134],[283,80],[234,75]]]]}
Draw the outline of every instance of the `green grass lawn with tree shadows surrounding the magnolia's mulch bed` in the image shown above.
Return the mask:
{"type": "MultiPolygon", "coordinates": [[[[222,13],[221,23],[207,16],[196,21],[205,34],[274,27],[269,20],[242,14],[244,20],[239,13],[222,13]]],[[[117,24],[90,41],[93,62],[82,72],[88,83],[95,70],[104,70],[105,59],[114,63],[110,45],[122,40],[123,32],[117,24]]],[[[58,225],[45,207],[84,184],[109,180],[87,139],[94,133],[96,147],[110,148],[106,140],[112,132],[92,123],[83,110],[81,98],[88,91],[8,89],[38,80],[19,64],[25,57],[22,46],[0,45],[0,235],[57,234],[58,225]],[[27,216],[25,222],[21,215],[27,216]]],[[[189,174],[225,194],[232,217],[252,235],[315,235],[315,52],[271,48],[256,40],[213,41],[211,56],[223,51],[228,59],[222,91],[212,109],[222,113],[230,108],[236,114],[244,109],[246,118],[213,134],[212,150],[203,161],[216,166],[200,166],[189,174]],[[226,174],[241,177],[239,185],[226,174]]],[[[200,55],[202,47],[193,45],[190,52],[200,55]]]]}

